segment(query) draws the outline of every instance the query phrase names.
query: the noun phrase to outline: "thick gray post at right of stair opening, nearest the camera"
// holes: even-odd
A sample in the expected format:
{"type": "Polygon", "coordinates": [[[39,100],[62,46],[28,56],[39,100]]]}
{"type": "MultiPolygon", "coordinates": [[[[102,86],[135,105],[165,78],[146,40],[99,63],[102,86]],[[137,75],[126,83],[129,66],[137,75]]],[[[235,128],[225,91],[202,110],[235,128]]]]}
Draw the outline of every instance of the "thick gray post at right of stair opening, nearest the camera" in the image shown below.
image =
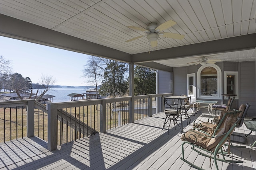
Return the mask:
{"type": "Polygon", "coordinates": [[[56,105],[48,104],[48,150],[57,149],[57,107],[56,105]]]}

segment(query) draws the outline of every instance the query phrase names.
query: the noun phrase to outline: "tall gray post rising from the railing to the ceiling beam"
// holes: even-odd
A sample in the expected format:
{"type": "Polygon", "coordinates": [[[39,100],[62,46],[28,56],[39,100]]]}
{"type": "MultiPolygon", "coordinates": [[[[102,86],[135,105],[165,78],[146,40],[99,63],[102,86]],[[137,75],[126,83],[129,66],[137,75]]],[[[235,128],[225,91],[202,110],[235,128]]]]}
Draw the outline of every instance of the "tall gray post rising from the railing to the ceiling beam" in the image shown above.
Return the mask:
{"type": "Polygon", "coordinates": [[[134,123],[134,63],[129,63],[129,122],[134,123]]]}

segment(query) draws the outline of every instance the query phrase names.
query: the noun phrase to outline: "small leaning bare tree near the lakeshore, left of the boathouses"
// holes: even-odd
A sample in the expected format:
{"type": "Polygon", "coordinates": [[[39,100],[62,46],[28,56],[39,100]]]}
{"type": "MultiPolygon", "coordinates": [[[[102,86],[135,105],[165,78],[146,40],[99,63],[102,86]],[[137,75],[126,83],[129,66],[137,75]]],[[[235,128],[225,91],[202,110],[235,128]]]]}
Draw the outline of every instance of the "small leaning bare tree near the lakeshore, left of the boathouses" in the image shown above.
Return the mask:
{"type": "Polygon", "coordinates": [[[44,91],[40,92],[40,96],[38,96],[38,98],[36,98],[36,96],[38,94],[38,90],[37,90],[36,96],[35,96],[36,101],[40,100],[40,98],[42,98],[42,96],[44,96],[44,94],[46,92],[48,92],[49,90],[52,89],[52,86],[54,86],[54,84],[55,84],[55,78],[53,78],[53,76],[49,76],[49,75],[41,75],[40,84],[42,84],[42,86],[44,87],[44,91]]]}

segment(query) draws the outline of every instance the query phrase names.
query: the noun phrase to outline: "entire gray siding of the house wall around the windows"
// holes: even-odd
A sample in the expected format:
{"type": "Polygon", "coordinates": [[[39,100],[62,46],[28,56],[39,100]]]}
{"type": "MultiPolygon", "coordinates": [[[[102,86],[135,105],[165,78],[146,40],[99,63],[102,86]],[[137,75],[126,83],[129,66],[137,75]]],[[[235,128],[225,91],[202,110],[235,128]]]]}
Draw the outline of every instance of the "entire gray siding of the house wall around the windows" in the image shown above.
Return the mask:
{"type": "MultiPolygon", "coordinates": [[[[216,63],[222,70],[222,89],[224,71],[238,71],[239,74],[239,100],[235,100],[232,109],[238,109],[241,104],[250,103],[248,116],[256,117],[256,64],[255,61],[248,62],[222,62],[216,63]]],[[[199,65],[199,64],[198,64],[199,65]]],[[[187,74],[197,73],[198,66],[176,67],[173,68],[173,94],[186,94],[187,74]]],[[[167,93],[170,88],[171,73],[159,71],[159,93],[167,93]]],[[[171,77],[172,78],[172,77],[171,77]]],[[[227,100],[224,101],[226,103],[227,100]]]]}

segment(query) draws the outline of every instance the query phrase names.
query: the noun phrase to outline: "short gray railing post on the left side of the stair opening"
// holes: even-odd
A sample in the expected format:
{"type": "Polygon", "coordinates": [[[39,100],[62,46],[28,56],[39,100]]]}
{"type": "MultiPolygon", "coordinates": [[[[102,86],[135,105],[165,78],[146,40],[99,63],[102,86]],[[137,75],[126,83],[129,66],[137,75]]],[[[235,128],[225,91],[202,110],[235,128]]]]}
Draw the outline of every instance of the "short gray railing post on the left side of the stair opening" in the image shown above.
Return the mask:
{"type": "Polygon", "coordinates": [[[27,105],[27,136],[34,136],[34,100],[28,101],[27,105]]]}

